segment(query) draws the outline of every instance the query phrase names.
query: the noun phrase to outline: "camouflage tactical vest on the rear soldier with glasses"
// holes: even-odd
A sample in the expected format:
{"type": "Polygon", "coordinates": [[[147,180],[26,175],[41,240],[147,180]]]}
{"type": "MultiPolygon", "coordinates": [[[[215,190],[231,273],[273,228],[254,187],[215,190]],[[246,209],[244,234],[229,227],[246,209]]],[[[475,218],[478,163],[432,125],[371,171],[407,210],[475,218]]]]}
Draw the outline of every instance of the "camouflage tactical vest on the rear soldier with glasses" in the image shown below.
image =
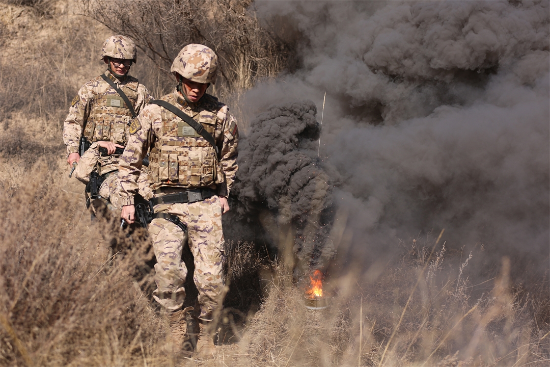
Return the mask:
{"type": "MultiPolygon", "coordinates": [[[[114,79],[111,74],[107,74],[107,76],[112,80],[114,79]]],[[[134,105],[133,107],[138,101],[138,86],[139,82],[134,78],[122,85],[122,90],[134,105]]],[[[131,119],[130,109],[122,97],[106,81],[100,78],[100,82],[94,87],[94,100],[84,129],[84,136],[88,138],[90,143],[107,140],[112,143],[126,145],[131,119]]]]}

